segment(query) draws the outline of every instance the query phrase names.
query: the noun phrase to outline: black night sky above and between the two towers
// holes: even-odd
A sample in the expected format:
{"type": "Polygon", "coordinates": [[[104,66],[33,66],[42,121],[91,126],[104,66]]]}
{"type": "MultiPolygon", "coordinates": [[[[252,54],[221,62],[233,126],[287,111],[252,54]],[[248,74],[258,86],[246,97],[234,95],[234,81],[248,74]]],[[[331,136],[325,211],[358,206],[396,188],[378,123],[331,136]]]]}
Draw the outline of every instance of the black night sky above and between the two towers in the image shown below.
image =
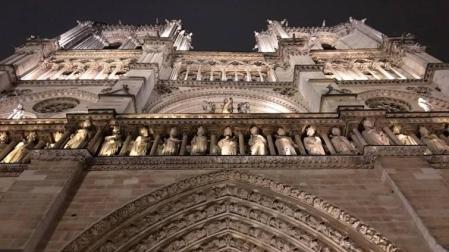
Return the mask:
{"type": "Polygon", "coordinates": [[[410,32],[434,56],[449,61],[449,0],[16,0],[2,1],[0,58],[30,34],[53,37],[79,20],[144,24],[182,19],[195,50],[250,51],[266,19],[292,26],[344,22],[349,16],[387,35],[410,32]]]}

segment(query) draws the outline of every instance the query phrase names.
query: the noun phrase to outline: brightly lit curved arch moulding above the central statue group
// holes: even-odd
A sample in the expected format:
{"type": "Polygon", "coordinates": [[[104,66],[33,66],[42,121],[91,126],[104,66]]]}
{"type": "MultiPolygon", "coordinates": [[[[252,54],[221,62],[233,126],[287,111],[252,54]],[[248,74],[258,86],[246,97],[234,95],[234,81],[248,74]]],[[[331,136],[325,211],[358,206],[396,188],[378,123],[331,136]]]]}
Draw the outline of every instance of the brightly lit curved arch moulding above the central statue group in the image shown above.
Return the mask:
{"type": "MultiPolygon", "coordinates": [[[[300,104],[299,101],[294,101],[288,99],[285,96],[279,95],[274,92],[262,91],[262,90],[246,90],[237,88],[195,88],[189,90],[180,90],[177,92],[172,92],[167,95],[161,96],[159,99],[152,101],[148,106],[146,111],[151,113],[157,113],[163,111],[168,111],[169,107],[173,107],[175,104],[188,103],[197,101],[199,108],[203,100],[208,100],[207,97],[241,97],[243,100],[250,102],[250,100],[255,100],[261,103],[271,103],[276,104],[290,112],[306,112],[307,107],[300,104]]],[[[222,98],[223,99],[223,98],[222,98]]],[[[221,99],[221,100],[222,100],[221,99]]],[[[184,104],[185,106],[185,104],[184,104]]],[[[189,107],[192,103],[189,103],[189,107]]],[[[200,109],[199,112],[201,112],[200,109]]],[[[171,111],[173,112],[173,111],[171,111]]]]}

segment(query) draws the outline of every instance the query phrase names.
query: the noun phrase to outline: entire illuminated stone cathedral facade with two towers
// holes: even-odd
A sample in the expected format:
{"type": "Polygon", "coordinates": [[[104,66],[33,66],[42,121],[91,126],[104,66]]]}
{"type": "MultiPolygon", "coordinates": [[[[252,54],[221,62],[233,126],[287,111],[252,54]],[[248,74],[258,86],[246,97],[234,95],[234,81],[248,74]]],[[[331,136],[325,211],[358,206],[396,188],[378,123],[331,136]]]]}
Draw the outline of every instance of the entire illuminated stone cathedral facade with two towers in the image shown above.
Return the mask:
{"type": "Polygon", "coordinates": [[[0,61],[0,251],[447,251],[449,64],[353,18],[254,35],[79,21],[0,61]]]}

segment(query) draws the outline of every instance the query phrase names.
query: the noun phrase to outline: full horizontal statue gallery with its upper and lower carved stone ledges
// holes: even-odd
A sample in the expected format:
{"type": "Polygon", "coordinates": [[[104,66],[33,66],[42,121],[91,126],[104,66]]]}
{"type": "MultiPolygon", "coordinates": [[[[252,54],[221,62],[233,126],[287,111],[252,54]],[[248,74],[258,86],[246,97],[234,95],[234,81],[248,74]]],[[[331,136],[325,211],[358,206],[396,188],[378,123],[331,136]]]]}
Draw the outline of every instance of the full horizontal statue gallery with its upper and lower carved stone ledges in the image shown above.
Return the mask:
{"type": "Polygon", "coordinates": [[[368,168],[376,156],[425,156],[445,167],[447,123],[445,112],[121,115],[91,111],[69,114],[66,119],[0,121],[0,159],[11,170],[45,153],[85,149],[93,157],[89,159],[94,169],[123,164],[130,169],[186,168],[195,163],[211,168],[368,168]]]}

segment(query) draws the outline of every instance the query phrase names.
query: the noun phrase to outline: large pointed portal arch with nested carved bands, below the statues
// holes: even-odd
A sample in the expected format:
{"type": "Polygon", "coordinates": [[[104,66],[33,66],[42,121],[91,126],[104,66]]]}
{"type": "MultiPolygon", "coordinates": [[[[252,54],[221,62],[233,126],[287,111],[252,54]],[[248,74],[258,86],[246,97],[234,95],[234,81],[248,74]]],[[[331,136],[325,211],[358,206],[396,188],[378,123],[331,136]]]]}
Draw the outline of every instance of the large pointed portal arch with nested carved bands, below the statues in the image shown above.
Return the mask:
{"type": "Polygon", "coordinates": [[[224,170],[180,181],[124,205],[63,251],[399,250],[360,220],[312,194],[224,170]]]}

